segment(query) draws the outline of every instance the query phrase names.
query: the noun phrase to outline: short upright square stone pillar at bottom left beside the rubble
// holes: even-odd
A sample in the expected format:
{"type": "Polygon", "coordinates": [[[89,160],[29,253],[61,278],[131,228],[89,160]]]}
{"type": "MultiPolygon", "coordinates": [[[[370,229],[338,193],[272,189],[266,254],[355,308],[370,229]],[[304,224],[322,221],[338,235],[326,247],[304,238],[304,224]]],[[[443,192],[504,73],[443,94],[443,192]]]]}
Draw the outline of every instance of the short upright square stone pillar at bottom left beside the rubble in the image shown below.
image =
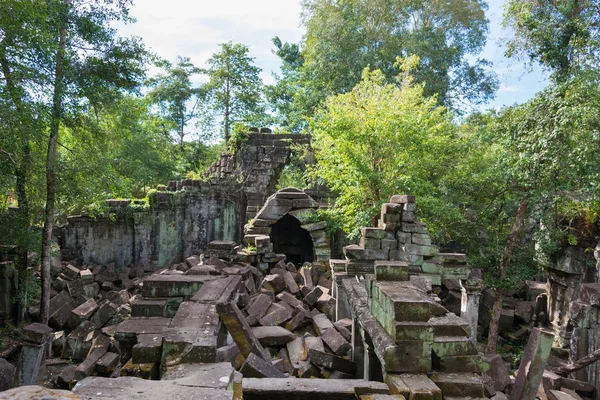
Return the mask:
{"type": "Polygon", "coordinates": [[[23,329],[23,346],[19,360],[19,385],[36,385],[46,359],[46,344],[52,328],[33,323],[23,329]]]}

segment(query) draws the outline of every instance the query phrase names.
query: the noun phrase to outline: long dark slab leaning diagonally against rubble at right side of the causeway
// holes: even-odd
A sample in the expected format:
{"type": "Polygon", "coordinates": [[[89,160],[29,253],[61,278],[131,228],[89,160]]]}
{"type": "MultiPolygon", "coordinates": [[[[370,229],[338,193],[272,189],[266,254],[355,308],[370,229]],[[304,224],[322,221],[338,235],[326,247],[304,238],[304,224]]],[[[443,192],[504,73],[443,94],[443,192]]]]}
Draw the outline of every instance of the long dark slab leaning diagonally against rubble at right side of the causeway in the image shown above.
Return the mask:
{"type": "Polygon", "coordinates": [[[217,304],[217,312],[245,358],[248,358],[250,353],[255,353],[263,360],[270,362],[269,353],[262,347],[256,336],[252,334],[252,328],[250,328],[235,303],[217,304]]]}

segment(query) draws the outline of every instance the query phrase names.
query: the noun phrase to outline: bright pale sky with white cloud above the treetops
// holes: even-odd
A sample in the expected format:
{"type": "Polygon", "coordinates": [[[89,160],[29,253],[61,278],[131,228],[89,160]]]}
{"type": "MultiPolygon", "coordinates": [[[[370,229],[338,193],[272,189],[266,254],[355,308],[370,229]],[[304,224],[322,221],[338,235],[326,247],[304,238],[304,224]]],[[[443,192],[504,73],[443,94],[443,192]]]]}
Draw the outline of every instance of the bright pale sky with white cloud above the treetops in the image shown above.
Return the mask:
{"type": "MultiPolygon", "coordinates": [[[[479,57],[493,62],[500,88],[496,99],[482,109],[500,108],[523,103],[542,90],[546,75],[539,67],[526,67],[524,60],[504,56],[509,32],[501,27],[503,0],[488,0],[487,17],[490,31],[487,45],[479,57]]],[[[160,57],[175,61],[189,57],[196,66],[219,51],[219,44],[233,41],[250,49],[251,57],[262,69],[267,84],[274,82],[272,73],[279,70],[279,59],[273,54],[271,39],[299,42],[300,0],[134,0],[131,16],[134,24],[119,27],[124,36],[143,38],[160,57]]]]}

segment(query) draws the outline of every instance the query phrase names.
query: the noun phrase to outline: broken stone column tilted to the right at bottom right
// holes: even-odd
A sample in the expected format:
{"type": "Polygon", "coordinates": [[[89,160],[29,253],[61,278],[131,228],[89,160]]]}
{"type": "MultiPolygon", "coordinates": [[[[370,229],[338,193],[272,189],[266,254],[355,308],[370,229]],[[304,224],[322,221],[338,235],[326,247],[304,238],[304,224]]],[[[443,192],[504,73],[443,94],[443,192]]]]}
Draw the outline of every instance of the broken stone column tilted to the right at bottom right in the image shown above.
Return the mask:
{"type": "Polygon", "coordinates": [[[525,353],[519,364],[517,379],[510,394],[511,400],[535,400],[553,341],[552,332],[540,328],[534,328],[531,331],[525,353]]]}

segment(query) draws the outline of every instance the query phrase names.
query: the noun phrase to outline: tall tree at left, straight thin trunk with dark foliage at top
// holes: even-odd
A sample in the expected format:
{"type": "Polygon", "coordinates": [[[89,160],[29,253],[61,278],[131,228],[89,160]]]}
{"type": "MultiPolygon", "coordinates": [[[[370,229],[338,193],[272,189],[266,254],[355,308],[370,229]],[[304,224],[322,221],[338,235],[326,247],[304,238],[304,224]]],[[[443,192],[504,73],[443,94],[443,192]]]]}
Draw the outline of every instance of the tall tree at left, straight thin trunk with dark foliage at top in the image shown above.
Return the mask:
{"type": "Polygon", "coordinates": [[[135,39],[116,37],[114,21],[128,21],[126,0],[54,1],[51,3],[57,38],[49,58],[53,71],[50,137],[46,156],[46,208],[42,237],[42,299],[40,319],[47,323],[50,306],[50,244],[56,201],[56,155],[61,123],[67,112],[99,107],[132,90],[145,75],[146,52],[135,39]],[[69,35],[67,30],[69,29],[69,35]],[[82,101],[81,96],[85,96],[82,101]]]}

